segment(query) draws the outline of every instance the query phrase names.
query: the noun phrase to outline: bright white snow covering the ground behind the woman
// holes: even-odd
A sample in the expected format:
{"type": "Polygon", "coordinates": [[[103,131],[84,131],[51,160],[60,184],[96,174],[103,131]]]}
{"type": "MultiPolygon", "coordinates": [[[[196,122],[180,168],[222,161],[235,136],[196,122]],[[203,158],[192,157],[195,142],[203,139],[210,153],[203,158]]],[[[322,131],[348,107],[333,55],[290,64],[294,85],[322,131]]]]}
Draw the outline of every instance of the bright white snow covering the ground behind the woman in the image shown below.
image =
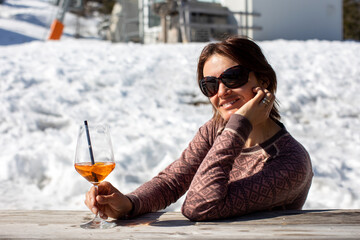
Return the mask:
{"type": "MultiPolygon", "coordinates": [[[[204,43],[113,44],[96,20],[65,17],[41,0],[0,5],[0,209],[86,209],[90,183],[74,169],[79,125],[111,128],[123,193],[177,159],[212,116],[196,84],[204,43]]],[[[305,209],[360,208],[360,43],[258,42],[278,75],[282,121],[309,151],[315,177],[305,209]]],[[[179,210],[183,198],[168,210],[179,210]]]]}

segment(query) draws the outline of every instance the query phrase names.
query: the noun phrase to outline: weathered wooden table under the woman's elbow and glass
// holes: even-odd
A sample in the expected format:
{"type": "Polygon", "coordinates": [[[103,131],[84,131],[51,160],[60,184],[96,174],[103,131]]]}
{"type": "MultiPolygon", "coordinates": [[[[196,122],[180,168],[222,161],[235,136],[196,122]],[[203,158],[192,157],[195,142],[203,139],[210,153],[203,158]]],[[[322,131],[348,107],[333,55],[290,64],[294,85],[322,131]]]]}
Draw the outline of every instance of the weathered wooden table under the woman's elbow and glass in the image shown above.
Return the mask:
{"type": "Polygon", "coordinates": [[[158,212],[116,221],[112,229],[79,227],[92,217],[85,211],[1,211],[0,239],[360,239],[360,210],[263,212],[212,222],[158,212]]]}

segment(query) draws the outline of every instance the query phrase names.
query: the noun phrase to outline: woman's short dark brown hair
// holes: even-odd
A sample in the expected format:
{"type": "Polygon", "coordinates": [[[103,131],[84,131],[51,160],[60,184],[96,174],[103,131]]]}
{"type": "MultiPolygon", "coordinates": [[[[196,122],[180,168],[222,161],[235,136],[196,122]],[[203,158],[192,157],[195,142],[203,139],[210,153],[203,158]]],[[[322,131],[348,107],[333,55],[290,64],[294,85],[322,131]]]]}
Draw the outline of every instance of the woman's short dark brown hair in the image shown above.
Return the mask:
{"type": "MultiPolygon", "coordinates": [[[[204,77],[203,69],[205,62],[214,54],[228,57],[234,62],[251,69],[257,80],[267,85],[266,89],[272,94],[275,94],[277,80],[274,69],[266,60],[260,47],[254,41],[245,37],[229,37],[221,42],[210,43],[205,46],[200,54],[197,66],[198,83],[204,77]]],[[[277,109],[278,105],[278,102],[275,100],[270,112],[270,117],[280,120],[280,114],[277,109]]],[[[217,122],[222,121],[220,114],[214,106],[213,111],[213,118],[217,122]]]]}

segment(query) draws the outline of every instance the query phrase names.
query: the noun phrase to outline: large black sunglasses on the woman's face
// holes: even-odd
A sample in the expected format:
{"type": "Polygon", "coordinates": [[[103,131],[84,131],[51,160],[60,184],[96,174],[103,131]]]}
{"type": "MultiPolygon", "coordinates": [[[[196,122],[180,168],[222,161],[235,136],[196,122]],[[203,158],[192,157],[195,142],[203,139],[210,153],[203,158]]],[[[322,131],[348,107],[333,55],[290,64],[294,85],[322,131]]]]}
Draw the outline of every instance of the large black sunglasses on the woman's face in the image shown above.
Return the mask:
{"type": "Polygon", "coordinates": [[[239,88],[248,82],[250,72],[250,69],[236,65],[226,69],[218,78],[204,77],[199,81],[200,89],[205,96],[212,97],[219,91],[220,81],[227,88],[239,88]]]}

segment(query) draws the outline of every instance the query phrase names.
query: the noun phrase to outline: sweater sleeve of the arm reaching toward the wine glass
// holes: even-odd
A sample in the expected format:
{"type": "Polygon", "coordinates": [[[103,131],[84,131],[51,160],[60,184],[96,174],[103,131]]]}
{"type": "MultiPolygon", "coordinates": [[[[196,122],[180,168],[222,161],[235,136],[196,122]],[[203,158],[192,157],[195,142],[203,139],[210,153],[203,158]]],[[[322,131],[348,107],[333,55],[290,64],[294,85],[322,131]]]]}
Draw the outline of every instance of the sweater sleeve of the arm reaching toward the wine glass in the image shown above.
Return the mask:
{"type": "Polygon", "coordinates": [[[214,131],[214,123],[210,120],[200,127],[179,159],[153,179],[127,194],[133,203],[133,210],[128,217],[164,209],[184,195],[201,161],[211,148],[209,136],[213,135],[214,131]]]}

